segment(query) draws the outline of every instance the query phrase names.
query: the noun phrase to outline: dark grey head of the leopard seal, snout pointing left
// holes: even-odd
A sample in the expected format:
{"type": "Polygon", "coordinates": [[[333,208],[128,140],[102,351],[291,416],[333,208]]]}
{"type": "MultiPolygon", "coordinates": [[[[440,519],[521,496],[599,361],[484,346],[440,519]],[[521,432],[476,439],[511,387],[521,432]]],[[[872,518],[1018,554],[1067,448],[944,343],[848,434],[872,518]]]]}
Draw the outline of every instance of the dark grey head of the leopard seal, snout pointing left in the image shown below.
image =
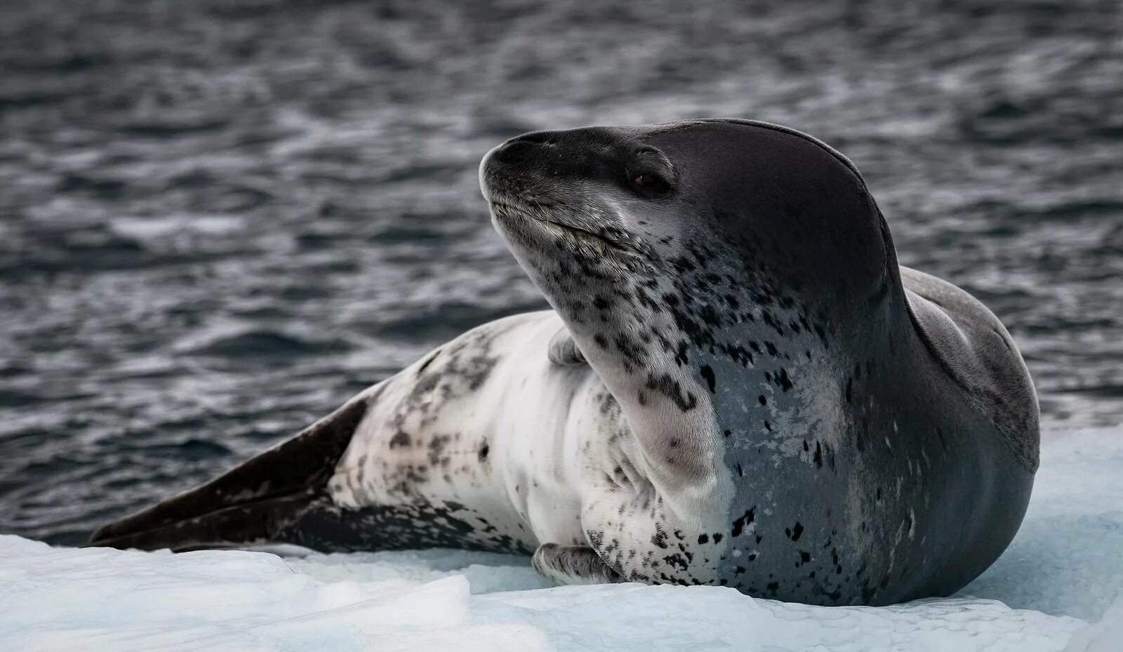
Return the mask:
{"type": "Polygon", "coordinates": [[[577,286],[636,275],[727,272],[737,296],[750,285],[745,270],[846,300],[882,290],[893,267],[884,220],[853,165],[774,125],[526,134],[487,154],[481,185],[500,233],[563,316],[587,310],[559,305],[577,286]]]}

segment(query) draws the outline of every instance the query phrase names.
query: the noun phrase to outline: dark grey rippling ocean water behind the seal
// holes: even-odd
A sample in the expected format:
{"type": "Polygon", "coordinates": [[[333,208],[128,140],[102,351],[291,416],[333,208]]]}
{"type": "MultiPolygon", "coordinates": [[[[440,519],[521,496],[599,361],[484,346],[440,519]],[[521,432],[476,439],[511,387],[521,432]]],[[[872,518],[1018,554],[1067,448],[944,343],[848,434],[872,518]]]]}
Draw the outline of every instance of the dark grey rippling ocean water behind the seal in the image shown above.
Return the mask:
{"type": "Polygon", "coordinates": [[[700,116],[841,149],[1047,429],[1123,422],[1115,0],[4,0],[0,532],[82,542],[545,306],[480,157],[700,116]]]}

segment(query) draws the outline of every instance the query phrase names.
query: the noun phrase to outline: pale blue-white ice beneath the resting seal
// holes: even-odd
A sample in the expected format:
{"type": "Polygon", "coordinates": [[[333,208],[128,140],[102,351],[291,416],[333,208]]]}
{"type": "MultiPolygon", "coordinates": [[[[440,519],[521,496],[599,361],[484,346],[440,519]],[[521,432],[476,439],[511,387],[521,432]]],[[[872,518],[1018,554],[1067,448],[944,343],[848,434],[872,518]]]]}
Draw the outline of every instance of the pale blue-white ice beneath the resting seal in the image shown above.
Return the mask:
{"type": "Polygon", "coordinates": [[[1006,553],[959,596],[809,607],[549,587],[528,560],[60,549],[0,536],[0,650],[1123,652],[1123,426],[1049,433],[1006,553]]]}

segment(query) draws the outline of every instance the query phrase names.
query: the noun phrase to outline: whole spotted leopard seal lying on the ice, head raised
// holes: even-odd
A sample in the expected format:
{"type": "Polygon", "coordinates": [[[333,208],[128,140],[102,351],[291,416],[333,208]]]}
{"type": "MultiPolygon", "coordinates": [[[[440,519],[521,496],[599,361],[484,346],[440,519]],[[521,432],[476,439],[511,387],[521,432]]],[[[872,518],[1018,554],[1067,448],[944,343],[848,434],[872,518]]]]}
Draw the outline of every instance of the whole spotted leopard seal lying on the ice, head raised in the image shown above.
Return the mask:
{"type": "Polygon", "coordinates": [[[551,311],[474,329],[94,545],[533,553],[563,582],[818,605],[956,591],[1016,532],[1010,334],[901,267],[857,168],[775,125],[539,131],[481,164],[551,311]]]}

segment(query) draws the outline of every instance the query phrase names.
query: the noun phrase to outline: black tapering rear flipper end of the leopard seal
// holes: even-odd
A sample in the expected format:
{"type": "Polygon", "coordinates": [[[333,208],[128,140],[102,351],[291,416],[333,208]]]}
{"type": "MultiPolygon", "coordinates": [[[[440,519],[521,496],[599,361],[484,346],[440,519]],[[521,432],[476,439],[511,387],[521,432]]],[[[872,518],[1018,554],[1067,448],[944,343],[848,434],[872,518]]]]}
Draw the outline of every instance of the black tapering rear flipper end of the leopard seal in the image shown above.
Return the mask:
{"type": "Polygon", "coordinates": [[[300,521],[335,511],[325,487],[366,408],[353,401],[213,480],[100,527],[89,544],[182,551],[301,543],[300,521]]]}

